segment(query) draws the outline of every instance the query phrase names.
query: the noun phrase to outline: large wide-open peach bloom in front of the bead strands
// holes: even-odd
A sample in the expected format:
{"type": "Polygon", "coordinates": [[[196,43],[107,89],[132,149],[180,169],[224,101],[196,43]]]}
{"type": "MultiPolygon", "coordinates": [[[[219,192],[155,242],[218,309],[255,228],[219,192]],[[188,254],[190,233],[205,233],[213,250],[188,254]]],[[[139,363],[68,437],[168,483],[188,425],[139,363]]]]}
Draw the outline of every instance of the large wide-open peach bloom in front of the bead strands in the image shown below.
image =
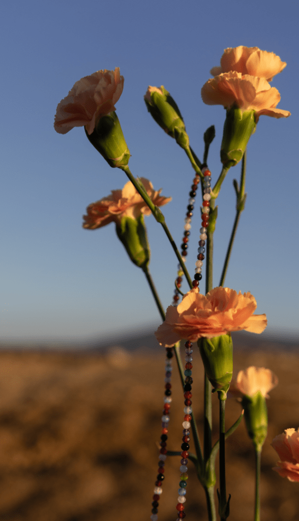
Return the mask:
{"type": "Polygon", "coordinates": [[[196,342],[231,331],[245,329],[261,333],[267,326],[266,315],[253,315],[256,301],[251,293],[239,294],[230,288],[214,288],[201,295],[194,288],[177,306],[169,306],[165,322],[155,332],[160,345],[169,347],[181,339],[196,342]]]}

